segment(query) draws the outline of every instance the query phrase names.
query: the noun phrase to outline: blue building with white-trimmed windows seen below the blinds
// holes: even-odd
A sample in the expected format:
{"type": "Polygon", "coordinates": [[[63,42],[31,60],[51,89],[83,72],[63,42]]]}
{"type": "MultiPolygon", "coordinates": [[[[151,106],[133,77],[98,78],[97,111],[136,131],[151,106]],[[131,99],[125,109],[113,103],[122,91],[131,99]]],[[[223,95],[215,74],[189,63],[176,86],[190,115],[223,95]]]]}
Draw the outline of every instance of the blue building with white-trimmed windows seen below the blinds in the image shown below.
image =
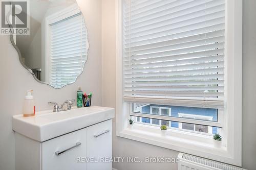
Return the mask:
{"type": "MultiPolygon", "coordinates": [[[[190,118],[190,119],[198,119],[198,120],[207,120],[211,122],[218,121],[218,109],[209,109],[209,108],[134,103],[133,112],[181,117],[181,118],[190,118]]],[[[136,120],[136,123],[148,124],[152,126],[166,125],[168,128],[177,128],[180,130],[197,131],[197,132],[203,132],[203,133],[209,133],[209,134],[218,133],[217,127],[180,123],[180,122],[173,122],[168,120],[160,120],[160,119],[146,118],[146,117],[136,117],[135,120],[136,120]]]]}

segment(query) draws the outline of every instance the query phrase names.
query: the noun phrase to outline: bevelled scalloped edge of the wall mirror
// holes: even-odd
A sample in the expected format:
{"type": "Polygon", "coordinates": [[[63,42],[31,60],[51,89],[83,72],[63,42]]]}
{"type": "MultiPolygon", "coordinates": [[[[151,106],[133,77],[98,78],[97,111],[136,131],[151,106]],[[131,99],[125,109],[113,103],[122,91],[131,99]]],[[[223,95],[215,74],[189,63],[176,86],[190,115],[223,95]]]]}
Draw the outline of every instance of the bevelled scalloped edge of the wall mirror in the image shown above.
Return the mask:
{"type": "MultiPolygon", "coordinates": [[[[11,3],[11,1],[10,1],[10,3],[11,3]]],[[[77,4],[77,2],[76,2],[76,4],[77,4]]],[[[78,6],[78,4],[77,4],[77,7],[78,7],[78,9],[80,10],[80,12],[81,12],[81,14],[82,14],[82,16],[83,16],[83,18],[84,18],[84,25],[86,25],[85,17],[84,17],[84,15],[83,15],[83,13],[82,13],[80,7],[78,6]]],[[[11,26],[10,24],[8,24],[8,25],[9,25],[10,29],[12,29],[12,26],[11,26]]],[[[88,34],[89,32],[88,32],[87,27],[86,27],[86,31],[87,31],[87,41],[88,41],[87,56],[89,57],[90,43],[89,43],[89,34],[88,34]]],[[[84,65],[83,65],[83,70],[82,70],[82,72],[76,77],[76,80],[75,80],[74,82],[69,83],[69,84],[66,84],[66,85],[63,85],[62,87],[54,87],[54,86],[48,84],[47,82],[43,82],[43,81],[37,79],[37,77],[35,76],[34,72],[33,72],[27,65],[25,65],[25,63],[23,63],[23,61],[22,61],[22,53],[20,53],[20,50],[19,50],[18,46],[17,46],[16,43],[14,42],[14,36],[13,36],[13,34],[10,35],[10,40],[11,40],[12,45],[14,46],[14,48],[16,49],[16,51],[17,51],[17,53],[18,53],[18,59],[19,59],[20,64],[22,64],[22,65],[27,69],[27,71],[29,72],[29,74],[32,75],[33,78],[34,78],[38,83],[49,85],[49,86],[51,86],[51,87],[53,87],[53,88],[55,88],[55,89],[61,89],[61,88],[65,87],[65,86],[67,86],[67,85],[72,85],[72,84],[74,84],[74,83],[77,81],[77,79],[81,76],[81,74],[83,73],[84,67],[86,66],[86,63],[87,63],[87,60],[88,60],[88,57],[87,57],[87,60],[86,60],[86,62],[84,62],[84,65]]]]}

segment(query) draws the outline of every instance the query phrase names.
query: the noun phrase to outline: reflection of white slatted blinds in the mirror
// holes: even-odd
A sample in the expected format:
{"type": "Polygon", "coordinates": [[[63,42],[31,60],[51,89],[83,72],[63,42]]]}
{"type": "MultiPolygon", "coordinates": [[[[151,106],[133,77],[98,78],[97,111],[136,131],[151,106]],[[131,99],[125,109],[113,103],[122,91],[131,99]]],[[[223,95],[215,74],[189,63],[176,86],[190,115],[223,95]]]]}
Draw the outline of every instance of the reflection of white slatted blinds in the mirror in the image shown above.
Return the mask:
{"type": "Polygon", "coordinates": [[[82,14],[50,25],[50,83],[62,87],[75,82],[87,59],[87,31],[82,14]]]}

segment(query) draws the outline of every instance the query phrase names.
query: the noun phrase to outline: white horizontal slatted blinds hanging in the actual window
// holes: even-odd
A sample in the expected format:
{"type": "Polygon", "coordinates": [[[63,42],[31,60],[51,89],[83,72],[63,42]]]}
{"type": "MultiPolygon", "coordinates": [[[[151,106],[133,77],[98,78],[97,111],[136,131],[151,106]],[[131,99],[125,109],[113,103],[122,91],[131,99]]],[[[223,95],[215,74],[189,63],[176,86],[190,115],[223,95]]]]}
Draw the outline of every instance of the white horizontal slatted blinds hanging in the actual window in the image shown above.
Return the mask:
{"type": "Polygon", "coordinates": [[[124,0],[124,100],[222,108],[224,41],[225,0],[124,0]]]}

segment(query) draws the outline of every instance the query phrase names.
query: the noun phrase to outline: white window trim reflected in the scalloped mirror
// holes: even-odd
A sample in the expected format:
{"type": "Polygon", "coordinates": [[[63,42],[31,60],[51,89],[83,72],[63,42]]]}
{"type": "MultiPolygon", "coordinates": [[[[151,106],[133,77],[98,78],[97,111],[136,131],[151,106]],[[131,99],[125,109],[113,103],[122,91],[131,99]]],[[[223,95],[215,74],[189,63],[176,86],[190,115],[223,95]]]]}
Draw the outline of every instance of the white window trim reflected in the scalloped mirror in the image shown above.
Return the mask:
{"type": "Polygon", "coordinates": [[[52,15],[49,15],[45,18],[45,82],[48,84],[50,83],[50,76],[51,76],[51,60],[50,60],[50,25],[58,22],[60,20],[66,19],[70,16],[76,15],[81,13],[77,4],[71,5],[65,9],[62,9],[52,15]]]}

